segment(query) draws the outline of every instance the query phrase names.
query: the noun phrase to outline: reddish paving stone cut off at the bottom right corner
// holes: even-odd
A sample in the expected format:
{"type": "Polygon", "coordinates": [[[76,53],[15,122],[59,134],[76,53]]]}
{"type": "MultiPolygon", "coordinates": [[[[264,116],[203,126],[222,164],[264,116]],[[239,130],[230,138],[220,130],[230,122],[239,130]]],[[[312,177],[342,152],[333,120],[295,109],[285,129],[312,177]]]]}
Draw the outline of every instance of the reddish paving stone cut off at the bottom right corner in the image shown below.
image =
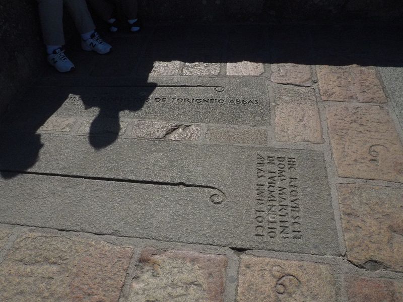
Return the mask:
{"type": "Polygon", "coordinates": [[[348,275],[345,278],[349,302],[402,302],[403,281],[370,279],[348,275]]]}

